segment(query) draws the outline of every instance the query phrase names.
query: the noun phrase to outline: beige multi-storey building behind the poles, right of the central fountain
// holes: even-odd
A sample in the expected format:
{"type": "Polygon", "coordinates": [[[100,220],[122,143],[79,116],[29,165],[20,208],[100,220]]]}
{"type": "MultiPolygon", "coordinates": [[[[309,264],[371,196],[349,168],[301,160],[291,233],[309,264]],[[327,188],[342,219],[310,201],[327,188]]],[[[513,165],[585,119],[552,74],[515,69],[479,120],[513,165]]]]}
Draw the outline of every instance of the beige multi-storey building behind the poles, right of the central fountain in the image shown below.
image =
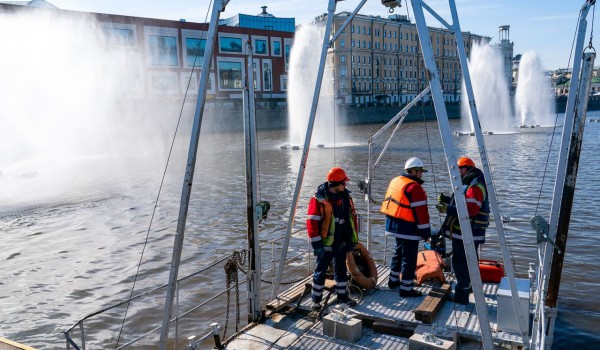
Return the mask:
{"type": "MultiPolygon", "coordinates": [[[[349,12],[336,14],[334,30],[349,16],[349,12]]],[[[444,100],[458,102],[462,73],[455,37],[446,29],[428,29],[444,100]]],[[[490,40],[463,32],[467,56],[470,56],[474,43],[490,40]]],[[[334,69],[338,104],[402,105],[428,84],[417,28],[406,16],[391,15],[385,19],[356,15],[335,41],[328,59],[334,69]]]]}

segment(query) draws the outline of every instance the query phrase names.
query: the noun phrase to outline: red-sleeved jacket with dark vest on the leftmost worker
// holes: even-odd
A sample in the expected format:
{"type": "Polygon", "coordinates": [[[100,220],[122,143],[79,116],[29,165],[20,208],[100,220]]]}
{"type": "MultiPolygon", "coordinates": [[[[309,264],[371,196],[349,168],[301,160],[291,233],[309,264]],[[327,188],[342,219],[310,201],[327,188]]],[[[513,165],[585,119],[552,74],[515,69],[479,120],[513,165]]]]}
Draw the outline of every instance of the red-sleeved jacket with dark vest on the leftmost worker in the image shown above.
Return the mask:
{"type": "Polygon", "coordinates": [[[325,183],[319,186],[308,203],[306,230],[313,249],[324,247],[325,250],[331,250],[336,237],[336,226],[345,228],[344,232],[338,232],[338,237],[343,241],[354,244],[358,242],[356,209],[350,191],[346,190],[341,199],[333,201],[327,194],[327,185],[325,183]],[[342,206],[341,210],[335,210],[340,209],[339,206],[342,206]],[[342,215],[336,217],[335,212],[341,212],[342,215]]]}

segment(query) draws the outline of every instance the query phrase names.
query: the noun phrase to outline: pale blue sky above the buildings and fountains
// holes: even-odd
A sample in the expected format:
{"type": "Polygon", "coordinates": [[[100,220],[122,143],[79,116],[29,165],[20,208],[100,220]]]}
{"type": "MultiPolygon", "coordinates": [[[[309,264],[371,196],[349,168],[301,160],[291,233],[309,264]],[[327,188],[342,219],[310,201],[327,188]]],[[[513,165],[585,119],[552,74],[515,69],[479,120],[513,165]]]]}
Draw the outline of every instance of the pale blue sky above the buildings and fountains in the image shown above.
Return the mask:
{"type": "MultiPolygon", "coordinates": [[[[208,22],[211,0],[48,0],[63,10],[111,13],[118,15],[179,20],[188,22],[208,22]]],[[[412,16],[412,6],[407,0],[395,14],[412,16]]],[[[353,11],[359,0],[340,1],[336,13],[353,11]]],[[[429,7],[451,22],[447,0],[430,0],[429,7]]],[[[307,23],[314,17],[327,12],[326,0],[231,0],[221,18],[238,13],[256,15],[261,6],[268,6],[267,12],[276,17],[294,17],[296,24],[307,23]]],[[[545,69],[572,67],[569,62],[571,47],[579,10],[584,0],[456,0],[462,31],[469,31],[499,41],[498,27],[510,25],[510,40],[514,42],[514,54],[533,51],[538,54],[545,69]]],[[[588,15],[586,46],[592,29],[592,7],[588,15]]],[[[360,11],[365,15],[386,17],[388,9],[380,0],[368,0],[360,11]]],[[[594,27],[600,30],[600,16],[595,18],[594,27]]],[[[441,24],[429,17],[430,27],[441,24]]],[[[600,33],[596,34],[600,38],[600,33]]],[[[598,41],[598,40],[595,40],[598,41]]],[[[592,43],[594,45],[594,43],[592,43]]],[[[600,45],[600,44],[599,44],[600,45]]],[[[600,46],[599,46],[600,47],[600,46]]],[[[598,62],[598,61],[597,61],[598,62]]],[[[600,65],[600,64],[596,64],[600,65]]]]}

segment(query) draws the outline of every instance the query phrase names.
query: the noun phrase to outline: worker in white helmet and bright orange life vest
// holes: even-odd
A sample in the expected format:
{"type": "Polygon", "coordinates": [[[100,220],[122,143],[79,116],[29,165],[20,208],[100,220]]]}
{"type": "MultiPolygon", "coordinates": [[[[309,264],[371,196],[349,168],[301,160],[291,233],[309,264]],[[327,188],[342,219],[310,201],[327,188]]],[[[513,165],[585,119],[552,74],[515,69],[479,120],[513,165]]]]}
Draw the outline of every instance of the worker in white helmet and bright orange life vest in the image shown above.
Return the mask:
{"type": "Polygon", "coordinates": [[[404,164],[404,170],[405,173],[390,182],[381,212],[386,215],[386,235],[396,238],[388,287],[400,287],[400,296],[411,298],[421,296],[421,292],[414,289],[417,254],[419,241],[430,240],[431,227],[427,193],[421,186],[427,169],[421,159],[412,157],[404,164]]]}

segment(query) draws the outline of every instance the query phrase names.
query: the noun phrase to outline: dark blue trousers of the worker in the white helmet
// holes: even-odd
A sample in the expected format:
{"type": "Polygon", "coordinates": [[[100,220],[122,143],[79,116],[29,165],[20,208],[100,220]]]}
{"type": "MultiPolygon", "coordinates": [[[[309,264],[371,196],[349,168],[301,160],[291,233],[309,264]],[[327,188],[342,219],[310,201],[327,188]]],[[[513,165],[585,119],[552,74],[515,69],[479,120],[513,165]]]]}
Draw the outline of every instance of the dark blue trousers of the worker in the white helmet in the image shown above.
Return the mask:
{"type": "Polygon", "coordinates": [[[389,282],[400,282],[400,290],[412,290],[415,285],[415,269],[419,240],[396,238],[396,250],[392,256],[389,282]],[[402,274],[402,279],[400,279],[402,274]]]}

